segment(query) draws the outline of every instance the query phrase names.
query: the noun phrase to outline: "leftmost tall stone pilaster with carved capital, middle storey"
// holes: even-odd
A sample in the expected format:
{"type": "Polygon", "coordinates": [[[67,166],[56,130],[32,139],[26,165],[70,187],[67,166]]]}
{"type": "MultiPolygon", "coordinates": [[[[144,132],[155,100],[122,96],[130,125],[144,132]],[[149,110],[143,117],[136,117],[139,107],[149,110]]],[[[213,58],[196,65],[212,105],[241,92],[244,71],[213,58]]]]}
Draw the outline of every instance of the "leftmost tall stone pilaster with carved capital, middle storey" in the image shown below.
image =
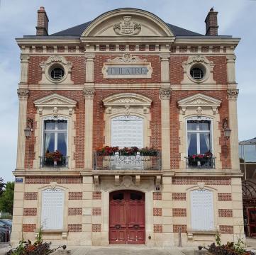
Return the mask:
{"type": "Polygon", "coordinates": [[[18,145],[16,169],[25,169],[25,142],[24,129],[27,125],[27,101],[29,96],[28,89],[18,89],[18,145]]]}

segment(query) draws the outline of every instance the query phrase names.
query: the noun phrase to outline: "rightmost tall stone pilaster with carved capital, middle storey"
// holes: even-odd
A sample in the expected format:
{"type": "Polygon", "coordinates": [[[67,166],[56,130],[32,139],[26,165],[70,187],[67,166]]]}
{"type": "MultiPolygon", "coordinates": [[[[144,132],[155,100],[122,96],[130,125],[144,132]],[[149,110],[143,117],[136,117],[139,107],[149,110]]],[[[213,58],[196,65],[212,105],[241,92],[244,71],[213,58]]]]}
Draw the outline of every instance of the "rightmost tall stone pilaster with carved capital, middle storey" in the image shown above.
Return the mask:
{"type": "Polygon", "coordinates": [[[240,171],[238,154],[238,113],[236,101],[238,98],[238,89],[228,89],[228,112],[230,135],[230,159],[231,167],[235,171],[240,171]]]}

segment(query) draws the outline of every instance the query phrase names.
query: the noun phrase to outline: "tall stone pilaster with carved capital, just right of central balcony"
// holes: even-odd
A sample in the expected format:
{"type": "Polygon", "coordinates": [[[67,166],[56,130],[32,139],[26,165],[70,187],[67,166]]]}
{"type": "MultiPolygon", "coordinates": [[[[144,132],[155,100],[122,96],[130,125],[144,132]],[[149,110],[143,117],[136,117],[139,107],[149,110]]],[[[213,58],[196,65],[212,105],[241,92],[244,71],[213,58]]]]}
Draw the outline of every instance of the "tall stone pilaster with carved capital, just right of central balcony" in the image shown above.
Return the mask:
{"type": "Polygon", "coordinates": [[[162,131],[162,169],[170,169],[170,134],[169,134],[169,99],[171,89],[160,89],[161,99],[161,131],[162,131]]]}

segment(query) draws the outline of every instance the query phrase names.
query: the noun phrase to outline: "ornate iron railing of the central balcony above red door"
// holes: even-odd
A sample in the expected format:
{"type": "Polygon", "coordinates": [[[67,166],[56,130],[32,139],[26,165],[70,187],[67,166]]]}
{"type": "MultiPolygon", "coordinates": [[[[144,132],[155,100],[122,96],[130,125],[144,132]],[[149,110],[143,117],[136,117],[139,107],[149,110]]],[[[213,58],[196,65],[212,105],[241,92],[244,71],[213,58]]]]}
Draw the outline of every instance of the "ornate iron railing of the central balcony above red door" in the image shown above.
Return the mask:
{"type": "Polygon", "coordinates": [[[94,153],[94,170],[153,170],[160,171],[162,169],[161,154],[157,152],[155,155],[101,155],[94,153]]]}

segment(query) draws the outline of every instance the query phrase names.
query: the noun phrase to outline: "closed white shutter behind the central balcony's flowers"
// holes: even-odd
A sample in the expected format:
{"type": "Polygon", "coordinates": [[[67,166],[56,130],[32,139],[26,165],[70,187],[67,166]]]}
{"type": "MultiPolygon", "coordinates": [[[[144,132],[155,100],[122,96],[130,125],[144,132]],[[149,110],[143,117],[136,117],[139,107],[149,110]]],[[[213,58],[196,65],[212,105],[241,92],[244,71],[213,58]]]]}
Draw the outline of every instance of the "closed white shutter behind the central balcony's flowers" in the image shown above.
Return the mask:
{"type": "Polygon", "coordinates": [[[143,147],[143,119],[137,116],[120,116],[111,121],[111,146],[143,147]]]}

